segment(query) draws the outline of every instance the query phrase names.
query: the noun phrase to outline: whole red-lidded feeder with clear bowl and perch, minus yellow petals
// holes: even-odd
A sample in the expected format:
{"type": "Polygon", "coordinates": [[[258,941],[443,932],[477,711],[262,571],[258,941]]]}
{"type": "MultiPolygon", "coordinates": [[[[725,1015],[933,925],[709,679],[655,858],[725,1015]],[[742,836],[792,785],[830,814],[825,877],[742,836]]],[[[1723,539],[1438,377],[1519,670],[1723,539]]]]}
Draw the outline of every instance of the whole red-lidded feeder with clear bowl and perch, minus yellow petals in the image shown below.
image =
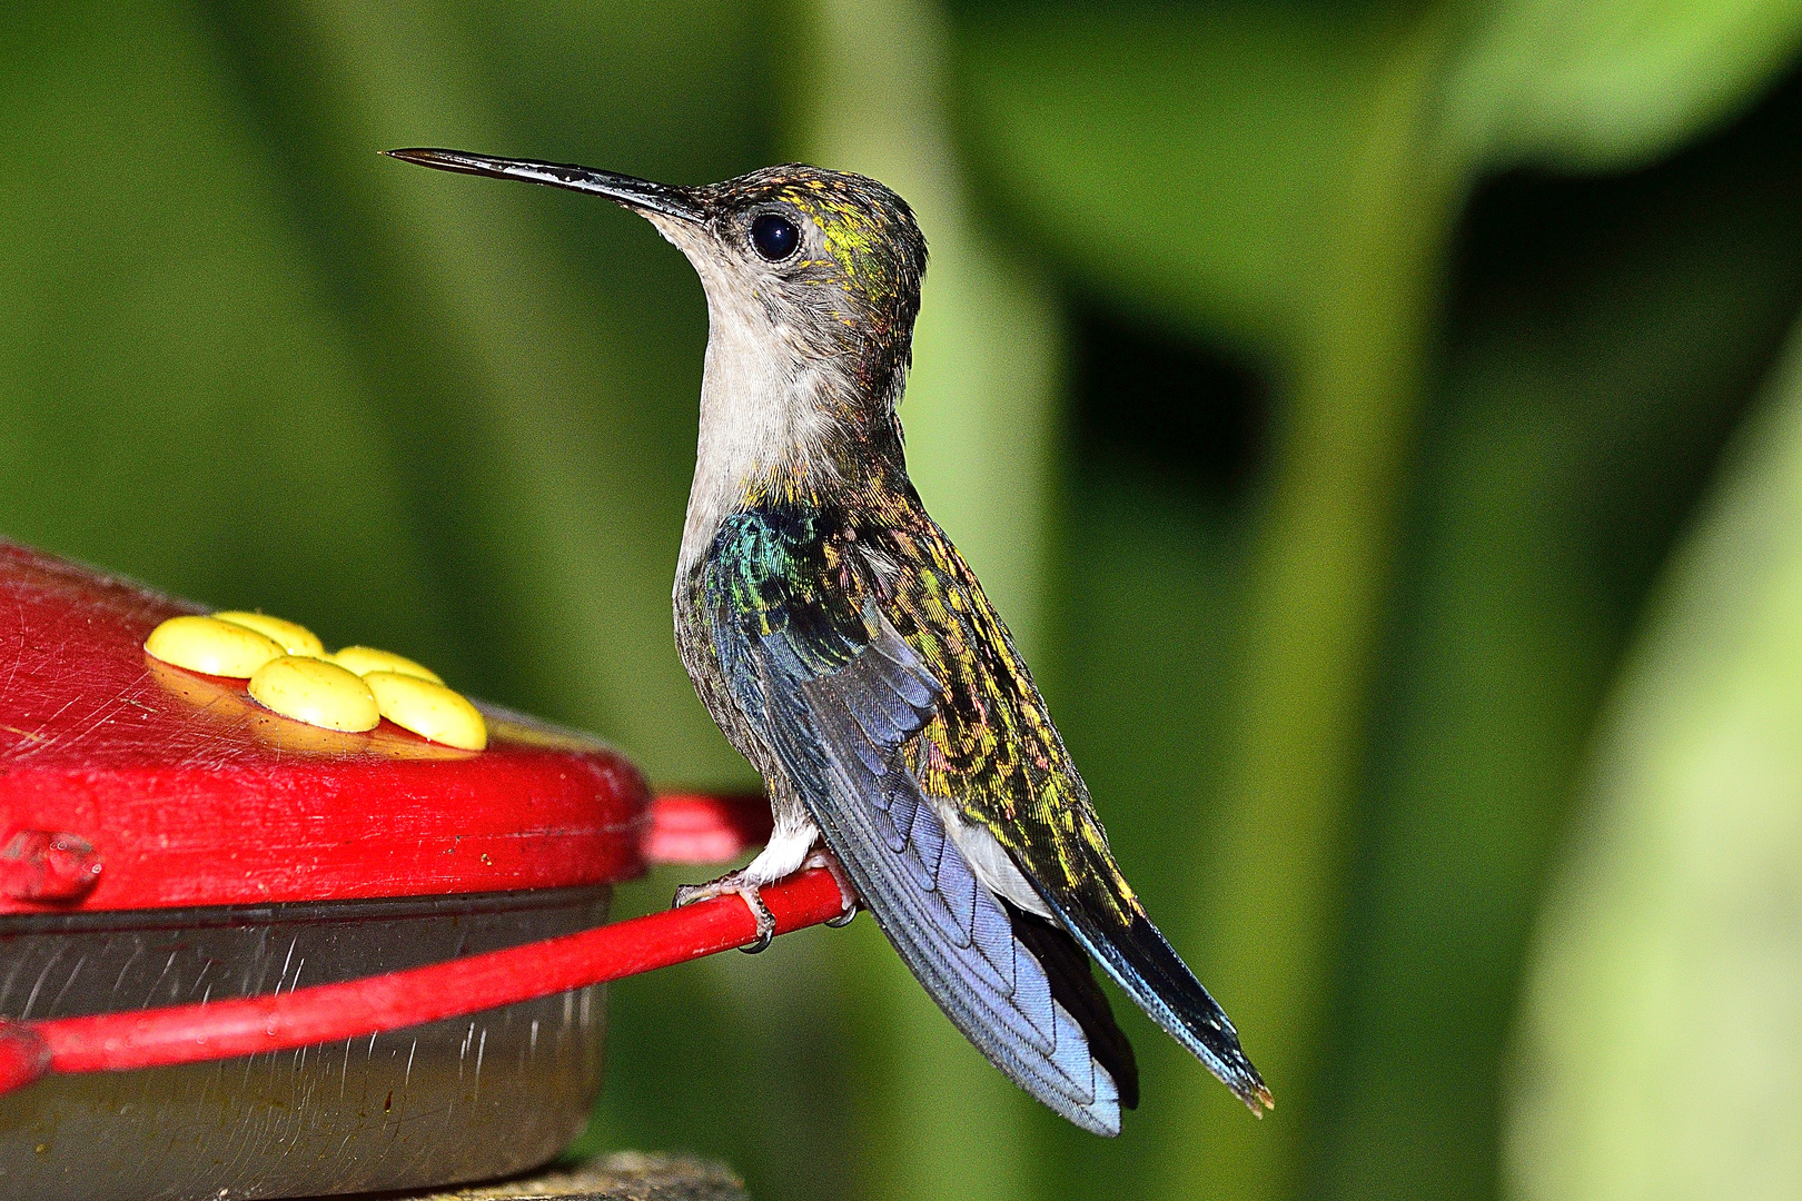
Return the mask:
{"type": "MultiPolygon", "coordinates": [[[[196,607],[0,542],[0,1196],[287,1197],[548,1161],[600,1088],[604,981],[755,935],[602,926],[768,808],[652,801],[582,735],[337,733],[144,654],[196,607]]],[[[778,929],[836,917],[811,871],[778,929]]]]}

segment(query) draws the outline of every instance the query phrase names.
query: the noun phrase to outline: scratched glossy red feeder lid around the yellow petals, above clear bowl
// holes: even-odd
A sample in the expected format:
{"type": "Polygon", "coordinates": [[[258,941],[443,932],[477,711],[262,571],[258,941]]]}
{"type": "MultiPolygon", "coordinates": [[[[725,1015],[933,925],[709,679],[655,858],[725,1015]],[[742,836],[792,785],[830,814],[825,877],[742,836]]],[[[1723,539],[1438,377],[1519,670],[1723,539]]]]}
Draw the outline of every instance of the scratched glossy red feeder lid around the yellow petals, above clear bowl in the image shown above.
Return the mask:
{"type": "Polygon", "coordinates": [[[602,884],[643,870],[645,780],[483,706],[487,751],[278,717],[144,654],[202,612],[0,542],[0,915],[602,884]]]}

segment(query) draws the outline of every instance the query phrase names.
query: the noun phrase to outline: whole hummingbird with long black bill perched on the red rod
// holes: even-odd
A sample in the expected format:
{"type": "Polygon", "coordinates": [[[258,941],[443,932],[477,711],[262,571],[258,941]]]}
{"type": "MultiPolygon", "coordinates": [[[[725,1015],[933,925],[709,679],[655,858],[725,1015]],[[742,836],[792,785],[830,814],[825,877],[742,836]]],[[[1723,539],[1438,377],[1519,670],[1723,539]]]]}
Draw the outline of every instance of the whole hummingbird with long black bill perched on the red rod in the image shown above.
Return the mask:
{"type": "Polygon", "coordinates": [[[1076,1125],[1137,1107],[1090,960],[1252,1113],[1274,1107],[1225,1012],[1159,933],[975,573],[908,481],[897,416],[926,239],[861,175],[787,164],[679,187],[571,164],[393,149],[613,200],[706,292],[676,646],[762,772],[773,832],[676,904],[825,866],[951,1023],[1076,1125]]]}

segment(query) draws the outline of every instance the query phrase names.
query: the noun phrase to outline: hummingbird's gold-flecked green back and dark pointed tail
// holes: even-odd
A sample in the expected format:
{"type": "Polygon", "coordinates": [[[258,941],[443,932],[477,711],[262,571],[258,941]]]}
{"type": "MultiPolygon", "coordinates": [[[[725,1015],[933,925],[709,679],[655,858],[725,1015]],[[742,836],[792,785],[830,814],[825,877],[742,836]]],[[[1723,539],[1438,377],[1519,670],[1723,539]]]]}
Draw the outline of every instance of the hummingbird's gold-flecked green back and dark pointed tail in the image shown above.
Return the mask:
{"type": "Polygon", "coordinates": [[[883,609],[941,686],[908,749],[921,790],[951,798],[987,828],[1115,983],[1261,1113],[1269,1089],[1114,862],[1088,789],[975,573],[917,501],[865,546],[894,565],[883,609]]]}

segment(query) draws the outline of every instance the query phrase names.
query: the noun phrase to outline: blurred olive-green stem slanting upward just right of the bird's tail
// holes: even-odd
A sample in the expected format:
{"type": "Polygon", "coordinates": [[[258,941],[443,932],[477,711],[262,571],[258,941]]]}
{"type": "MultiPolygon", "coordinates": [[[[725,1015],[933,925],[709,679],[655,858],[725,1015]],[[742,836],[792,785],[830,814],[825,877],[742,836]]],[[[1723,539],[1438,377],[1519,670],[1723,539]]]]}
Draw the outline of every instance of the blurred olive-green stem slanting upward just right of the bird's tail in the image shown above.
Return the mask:
{"type": "MultiPolygon", "coordinates": [[[[1283,414],[1245,628],[1243,693],[1188,945],[1278,1098],[1252,1129],[1197,1097],[1169,1149],[1171,1197],[1287,1197],[1314,1124],[1344,826],[1398,540],[1458,176],[1434,148],[1447,23],[1391,45],[1283,414]],[[1206,1115],[1206,1116],[1204,1116],[1206,1115]]],[[[1213,1082],[1207,1082],[1213,1086],[1213,1082]]]]}

